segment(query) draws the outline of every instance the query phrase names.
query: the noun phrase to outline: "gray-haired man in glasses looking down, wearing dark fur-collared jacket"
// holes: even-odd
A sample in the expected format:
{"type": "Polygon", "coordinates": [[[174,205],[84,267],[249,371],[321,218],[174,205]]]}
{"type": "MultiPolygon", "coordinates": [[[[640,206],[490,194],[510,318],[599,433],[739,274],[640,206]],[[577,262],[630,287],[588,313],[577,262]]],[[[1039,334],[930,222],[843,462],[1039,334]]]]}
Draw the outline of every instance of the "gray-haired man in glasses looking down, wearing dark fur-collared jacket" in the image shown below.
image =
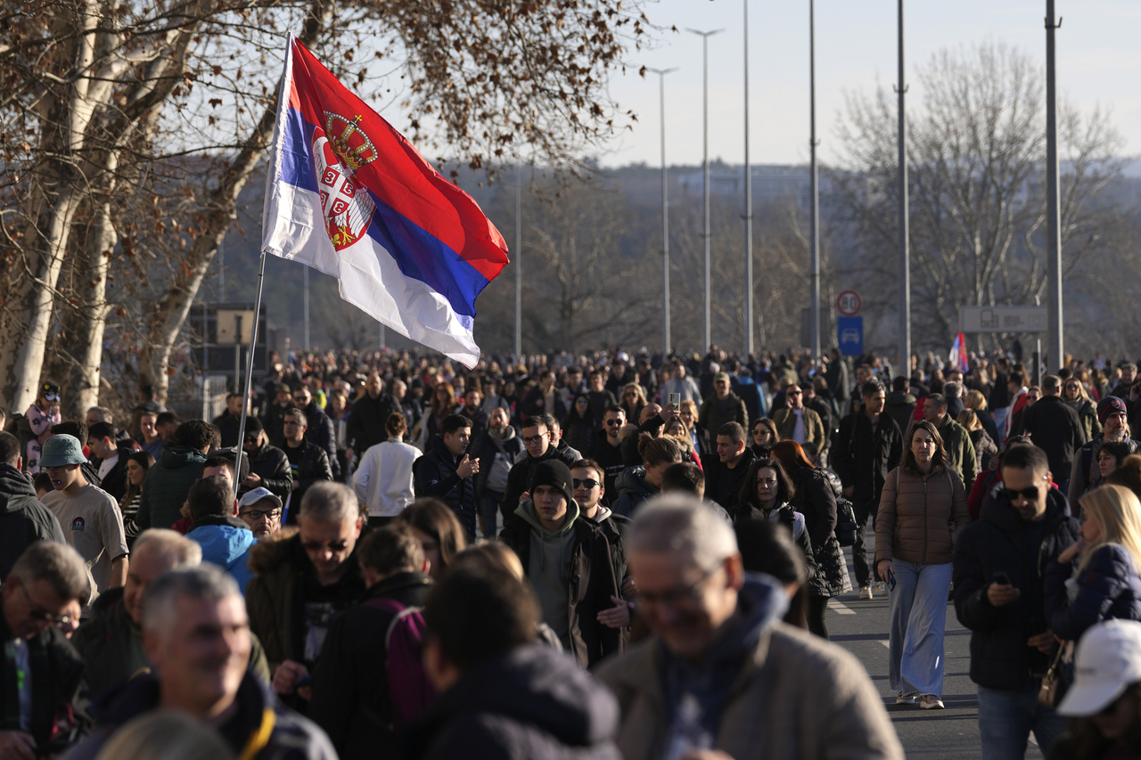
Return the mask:
{"type": "Polygon", "coordinates": [[[364,518],[353,488],[321,482],[301,500],[297,524],[297,532],[280,532],[251,548],[254,577],[245,601],[250,628],[266,647],[274,690],[302,708],[329,622],[365,591],[354,557],[364,518]]]}

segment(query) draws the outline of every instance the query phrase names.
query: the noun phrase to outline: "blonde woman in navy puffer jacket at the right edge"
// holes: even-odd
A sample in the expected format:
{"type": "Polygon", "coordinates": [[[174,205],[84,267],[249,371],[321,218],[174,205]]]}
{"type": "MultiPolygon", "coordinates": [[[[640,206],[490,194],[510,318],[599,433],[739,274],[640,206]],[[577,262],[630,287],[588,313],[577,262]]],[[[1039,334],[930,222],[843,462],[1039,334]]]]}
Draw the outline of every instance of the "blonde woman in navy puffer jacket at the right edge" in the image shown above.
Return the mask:
{"type": "Polygon", "coordinates": [[[1082,539],[1046,566],[1046,622],[1077,641],[1110,617],[1141,620],[1141,501],[1103,485],[1082,496],[1082,539]]]}

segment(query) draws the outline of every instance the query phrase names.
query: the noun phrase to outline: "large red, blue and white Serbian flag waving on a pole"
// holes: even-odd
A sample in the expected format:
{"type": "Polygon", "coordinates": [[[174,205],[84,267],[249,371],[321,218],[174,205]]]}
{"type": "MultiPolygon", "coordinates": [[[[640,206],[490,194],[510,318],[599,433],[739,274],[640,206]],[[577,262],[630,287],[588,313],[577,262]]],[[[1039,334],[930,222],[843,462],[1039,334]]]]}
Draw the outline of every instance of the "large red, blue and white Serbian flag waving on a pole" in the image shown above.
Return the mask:
{"type": "Polygon", "coordinates": [[[261,248],[332,275],[346,301],[468,367],[476,297],[508,262],[471,196],[292,37],[261,248]]]}

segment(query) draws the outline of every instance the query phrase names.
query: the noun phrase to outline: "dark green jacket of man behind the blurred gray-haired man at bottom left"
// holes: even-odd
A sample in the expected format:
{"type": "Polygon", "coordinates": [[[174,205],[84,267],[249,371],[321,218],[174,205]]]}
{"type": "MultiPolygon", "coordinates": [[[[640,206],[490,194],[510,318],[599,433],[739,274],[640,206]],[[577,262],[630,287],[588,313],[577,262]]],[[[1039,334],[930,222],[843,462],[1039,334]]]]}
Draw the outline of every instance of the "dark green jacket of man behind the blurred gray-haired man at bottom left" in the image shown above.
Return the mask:
{"type": "MultiPolygon", "coordinates": [[[[92,694],[151,669],[151,661],[143,652],[143,631],[123,606],[122,588],[99,596],[91,608],[91,617],[72,634],[71,644],[83,658],[92,694]]],[[[269,684],[266,653],[256,636],[252,637],[249,670],[261,682],[269,684]]]]}

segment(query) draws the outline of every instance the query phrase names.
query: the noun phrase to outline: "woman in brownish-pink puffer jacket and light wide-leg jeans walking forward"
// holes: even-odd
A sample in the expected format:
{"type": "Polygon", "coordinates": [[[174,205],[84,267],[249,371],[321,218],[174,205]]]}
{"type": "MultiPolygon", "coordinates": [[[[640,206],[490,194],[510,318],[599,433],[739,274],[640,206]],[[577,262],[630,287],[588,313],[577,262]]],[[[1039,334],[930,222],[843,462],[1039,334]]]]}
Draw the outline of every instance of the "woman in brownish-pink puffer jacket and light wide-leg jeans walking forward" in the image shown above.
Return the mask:
{"type": "Polygon", "coordinates": [[[891,590],[888,678],[896,704],[941,710],[953,539],[971,517],[936,427],[913,422],[904,440],[904,460],[888,474],[875,524],[876,574],[891,590]]]}

